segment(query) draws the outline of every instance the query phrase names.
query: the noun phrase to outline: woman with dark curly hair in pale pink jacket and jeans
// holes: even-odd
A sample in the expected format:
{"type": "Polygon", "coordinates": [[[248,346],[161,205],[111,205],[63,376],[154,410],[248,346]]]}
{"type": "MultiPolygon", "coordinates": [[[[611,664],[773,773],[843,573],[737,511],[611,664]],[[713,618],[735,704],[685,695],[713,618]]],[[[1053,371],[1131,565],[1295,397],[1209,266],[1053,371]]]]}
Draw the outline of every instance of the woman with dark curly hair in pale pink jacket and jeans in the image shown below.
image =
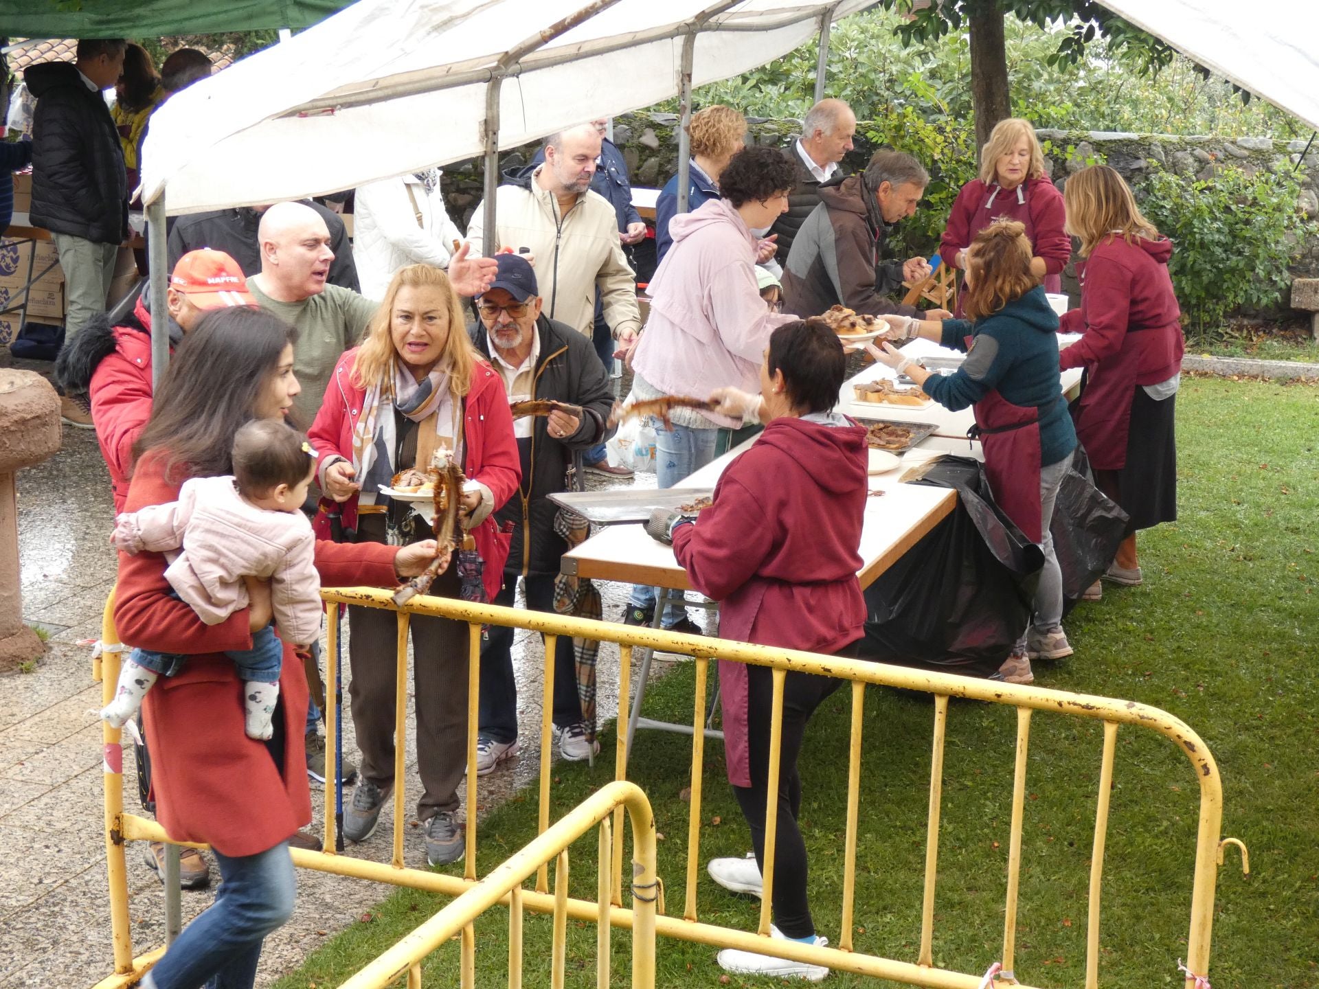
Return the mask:
{"type": "MultiPolygon", "coordinates": [[[[650,282],[650,318],[633,352],[632,392],[638,400],[706,397],[732,385],[751,392],[774,327],[793,316],[769,311],[756,282],[756,235],[787,210],[795,181],[793,164],[774,148],[737,152],[719,178],[719,199],[674,216],[673,249],[650,282]]],[[[720,427],[740,427],[741,417],[678,409],[671,427],[654,421],[656,473],[671,488],[715,459],[720,427]]],[[[632,588],[625,621],[649,624],[654,589],[632,588]]],[[[677,608],[666,629],[699,632],[677,608]]]]}

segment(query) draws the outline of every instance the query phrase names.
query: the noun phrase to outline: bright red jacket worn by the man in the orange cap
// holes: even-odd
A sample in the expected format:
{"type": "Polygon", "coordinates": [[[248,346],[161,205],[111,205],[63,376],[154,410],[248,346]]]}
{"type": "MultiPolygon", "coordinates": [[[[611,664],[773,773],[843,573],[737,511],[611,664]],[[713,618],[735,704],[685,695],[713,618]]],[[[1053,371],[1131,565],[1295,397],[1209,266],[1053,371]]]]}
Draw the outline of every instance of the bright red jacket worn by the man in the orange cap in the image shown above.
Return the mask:
{"type": "Polygon", "coordinates": [[[141,299],[133,311],[148,332],[115,327],[115,351],[102,357],[87,394],[96,442],[109,468],[115,514],[124,510],[128,479],[133,472],[133,443],[152,417],[152,316],[141,299]]]}

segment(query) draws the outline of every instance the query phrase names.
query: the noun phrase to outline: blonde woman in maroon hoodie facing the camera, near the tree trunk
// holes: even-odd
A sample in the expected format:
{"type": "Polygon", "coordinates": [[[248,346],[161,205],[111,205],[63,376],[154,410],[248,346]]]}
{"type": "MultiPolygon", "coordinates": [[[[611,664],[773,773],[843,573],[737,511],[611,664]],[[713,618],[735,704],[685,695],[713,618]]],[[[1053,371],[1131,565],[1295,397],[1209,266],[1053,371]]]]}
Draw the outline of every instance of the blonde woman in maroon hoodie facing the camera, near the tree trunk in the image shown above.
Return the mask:
{"type": "Polygon", "coordinates": [[[1043,281],[1045,291],[1060,291],[1059,273],[1071,257],[1071,237],[1063,231],[1063,198],[1045,174],[1035,128],[1021,117],[1000,120],[989,132],[980,152],[980,177],[958,193],[939,241],[939,257],[966,270],[967,247],[1000,216],[1025,227],[1031,274],[1043,281]]]}

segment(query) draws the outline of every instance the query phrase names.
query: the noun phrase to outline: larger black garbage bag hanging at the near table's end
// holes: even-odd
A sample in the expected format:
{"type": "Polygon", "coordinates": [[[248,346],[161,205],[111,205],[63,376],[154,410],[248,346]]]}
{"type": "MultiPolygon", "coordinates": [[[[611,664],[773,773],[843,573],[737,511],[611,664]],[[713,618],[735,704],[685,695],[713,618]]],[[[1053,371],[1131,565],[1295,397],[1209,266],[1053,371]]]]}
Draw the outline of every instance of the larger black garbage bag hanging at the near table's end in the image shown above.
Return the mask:
{"type": "Polygon", "coordinates": [[[942,458],[915,483],[954,488],[958,506],[867,588],[860,655],[988,676],[1030,622],[1043,553],[995,502],[979,460],[942,458]]]}

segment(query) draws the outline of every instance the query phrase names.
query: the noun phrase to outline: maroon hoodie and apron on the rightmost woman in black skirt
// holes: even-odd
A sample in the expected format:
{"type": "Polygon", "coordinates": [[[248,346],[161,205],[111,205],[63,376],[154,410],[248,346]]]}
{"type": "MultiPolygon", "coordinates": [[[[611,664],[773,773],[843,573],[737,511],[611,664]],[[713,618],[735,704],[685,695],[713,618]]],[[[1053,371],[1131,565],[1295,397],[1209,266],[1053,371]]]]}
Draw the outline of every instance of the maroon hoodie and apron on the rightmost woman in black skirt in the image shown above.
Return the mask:
{"type": "Polygon", "coordinates": [[[1141,385],[1167,381],[1182,368],[1181,309],[1167,273],[1173,241],[1109,236],[1076,265],[1080,309],[1064,313],[1060,332],[1080,332],[1058,356],[1059,367],[1088,369],[1076,435],[1091,464],[1126,464],[1132,401],[1141,385]]]}

